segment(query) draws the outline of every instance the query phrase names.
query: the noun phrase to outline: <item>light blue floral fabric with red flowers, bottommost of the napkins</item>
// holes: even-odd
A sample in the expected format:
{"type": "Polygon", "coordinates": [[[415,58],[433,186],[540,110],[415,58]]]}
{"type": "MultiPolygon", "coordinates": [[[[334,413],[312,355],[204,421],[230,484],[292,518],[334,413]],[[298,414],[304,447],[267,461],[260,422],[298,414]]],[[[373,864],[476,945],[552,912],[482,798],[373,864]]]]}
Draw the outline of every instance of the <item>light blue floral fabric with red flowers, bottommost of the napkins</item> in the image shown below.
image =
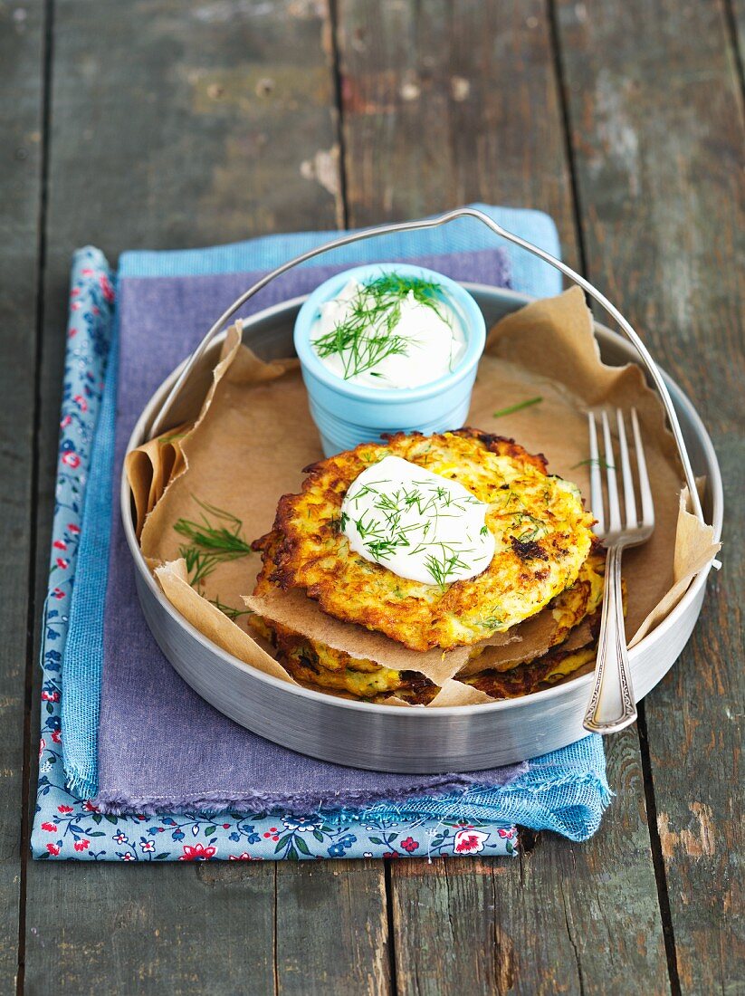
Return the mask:
{"type": "Polygon", "coordinates": [[[145,816],[102,814],[70,790],[62,759],[60,702],[69,605],[86,481],[101,405],[115,308],[113,275],[97,249],[75,257],[49,589],[41,650],[42,709],[37,806],[31,851],[40,860],[277,861],[320,858],[514,856],[517,832],[504,823],[423,820],[388,814],[364,820],[319,813],[145,816]]]}

